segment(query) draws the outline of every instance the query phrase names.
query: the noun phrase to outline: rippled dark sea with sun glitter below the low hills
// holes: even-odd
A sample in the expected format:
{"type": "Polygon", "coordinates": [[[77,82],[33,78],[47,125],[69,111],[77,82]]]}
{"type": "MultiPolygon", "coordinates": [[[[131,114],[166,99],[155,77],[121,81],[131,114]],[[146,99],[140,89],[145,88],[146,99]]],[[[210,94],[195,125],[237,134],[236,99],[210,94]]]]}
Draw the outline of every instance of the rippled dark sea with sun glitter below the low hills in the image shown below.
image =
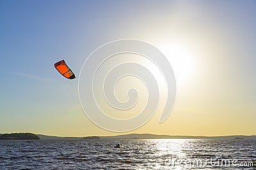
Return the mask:
{"type": "Polygon", "coordinates": [[[0,169],[256,169],[256,140],[2,140],[0,169]]]}

